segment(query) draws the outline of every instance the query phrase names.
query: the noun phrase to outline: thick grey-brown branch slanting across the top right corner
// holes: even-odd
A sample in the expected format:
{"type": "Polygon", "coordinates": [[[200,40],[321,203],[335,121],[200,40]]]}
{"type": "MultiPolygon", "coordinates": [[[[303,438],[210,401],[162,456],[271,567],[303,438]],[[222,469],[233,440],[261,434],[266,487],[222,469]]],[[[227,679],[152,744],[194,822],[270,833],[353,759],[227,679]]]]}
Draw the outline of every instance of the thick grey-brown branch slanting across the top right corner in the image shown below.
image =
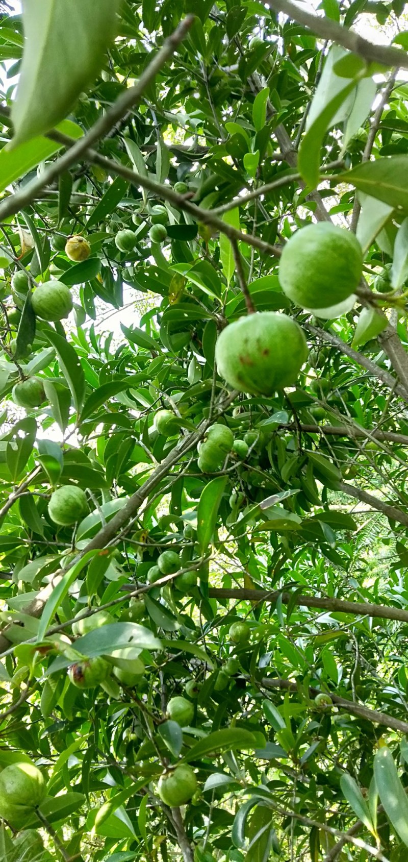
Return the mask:
{"type": "Polygon", "coordinates": [[[301,9],[295,3],[291,3],[291,0],[265,0],[265,3],[269,9],[283,12],[284,15],[302,24],[303,27],[312,30],[321,39],[337,42],[337,45],[359,54],[370,63],[408,69],[408,56],[405,51],[399,50],[399,48],[373,45],[372,42],[355,33],[354,30],[342,27],[332,18],[312,15],[310,12],[306,12],[306,9],[301,9]]]}

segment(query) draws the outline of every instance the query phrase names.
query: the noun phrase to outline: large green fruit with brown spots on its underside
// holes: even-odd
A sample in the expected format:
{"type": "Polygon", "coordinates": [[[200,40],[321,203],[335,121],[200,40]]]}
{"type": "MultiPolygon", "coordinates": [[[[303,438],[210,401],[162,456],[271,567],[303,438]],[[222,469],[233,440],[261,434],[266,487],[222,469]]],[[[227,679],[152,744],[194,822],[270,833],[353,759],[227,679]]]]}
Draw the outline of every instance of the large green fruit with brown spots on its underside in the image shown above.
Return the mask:
{"type": "Polygon", "coordinates": [[[234,389],[272,395],[296,382],[307,359],[306,338],[291,317],[261,311],[223,329],[215,359],[219,374],[234,389]]]}

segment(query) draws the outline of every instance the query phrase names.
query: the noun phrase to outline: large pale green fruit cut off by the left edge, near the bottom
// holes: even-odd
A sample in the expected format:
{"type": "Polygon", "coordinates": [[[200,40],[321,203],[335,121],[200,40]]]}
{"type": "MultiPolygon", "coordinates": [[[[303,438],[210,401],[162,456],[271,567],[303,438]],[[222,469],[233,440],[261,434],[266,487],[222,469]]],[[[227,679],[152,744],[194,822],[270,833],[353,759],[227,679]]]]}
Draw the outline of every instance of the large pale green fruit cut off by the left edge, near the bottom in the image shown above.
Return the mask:
{"type": "Polygon", "coordinates": [[[46,796],[46,782],[34,763],[13,763],[0,772],[0,817],[21,828],[46,796]]]}

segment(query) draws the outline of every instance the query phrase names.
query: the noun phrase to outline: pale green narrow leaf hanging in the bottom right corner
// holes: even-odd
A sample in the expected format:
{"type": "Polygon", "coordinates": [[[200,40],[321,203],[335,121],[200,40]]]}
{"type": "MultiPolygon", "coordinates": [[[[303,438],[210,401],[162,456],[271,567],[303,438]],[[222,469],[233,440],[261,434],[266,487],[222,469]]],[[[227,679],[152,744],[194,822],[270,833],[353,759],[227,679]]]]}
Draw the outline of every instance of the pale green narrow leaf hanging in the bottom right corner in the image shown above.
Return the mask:
{"type": "Polygon", "coordinates": [[[374,778],[386,816],[408,847],[408,799],[389,748],[379,748],[375,754],[374,778]]]}

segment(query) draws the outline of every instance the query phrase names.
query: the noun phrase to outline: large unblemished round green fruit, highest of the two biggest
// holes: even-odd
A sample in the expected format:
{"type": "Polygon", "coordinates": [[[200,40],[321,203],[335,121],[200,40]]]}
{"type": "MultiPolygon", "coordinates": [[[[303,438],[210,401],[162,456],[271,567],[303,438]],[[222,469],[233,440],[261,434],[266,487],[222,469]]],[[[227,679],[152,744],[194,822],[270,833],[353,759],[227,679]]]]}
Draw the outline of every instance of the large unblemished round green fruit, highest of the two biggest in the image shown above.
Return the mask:
{"type": "Polygon", "coordinates": [[[362,278],[362,247],[355,234],[331,222],[297,230],[281,254],[279,280],[300,308],[327,309],[354,293],[362,278]]]}

